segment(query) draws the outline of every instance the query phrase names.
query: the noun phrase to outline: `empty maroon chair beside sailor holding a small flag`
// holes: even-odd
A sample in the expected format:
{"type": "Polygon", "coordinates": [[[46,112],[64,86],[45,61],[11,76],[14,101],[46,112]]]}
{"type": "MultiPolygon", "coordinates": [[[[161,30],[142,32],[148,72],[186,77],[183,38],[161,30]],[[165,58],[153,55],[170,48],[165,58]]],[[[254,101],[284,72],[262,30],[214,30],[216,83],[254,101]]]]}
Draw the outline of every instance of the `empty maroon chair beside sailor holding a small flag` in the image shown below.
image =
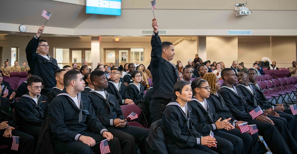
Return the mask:
{"type": "MultiPolygon", "coordinates": [[[[141,109],[135,104],[121,105],[121,109],[125,118],[127,118],[132,112],[135,112],[138,115],[138,117],[142,114],[141,109]]],[[[137,127],[145,128],[144,126],[142,126],[140,123],[136,121],[130,121],[127,119],[127,122],[129,126],[137,126],[137,127]]],[[[150,128],[146,128],[146,129],[150,130],[150,128]]]]}

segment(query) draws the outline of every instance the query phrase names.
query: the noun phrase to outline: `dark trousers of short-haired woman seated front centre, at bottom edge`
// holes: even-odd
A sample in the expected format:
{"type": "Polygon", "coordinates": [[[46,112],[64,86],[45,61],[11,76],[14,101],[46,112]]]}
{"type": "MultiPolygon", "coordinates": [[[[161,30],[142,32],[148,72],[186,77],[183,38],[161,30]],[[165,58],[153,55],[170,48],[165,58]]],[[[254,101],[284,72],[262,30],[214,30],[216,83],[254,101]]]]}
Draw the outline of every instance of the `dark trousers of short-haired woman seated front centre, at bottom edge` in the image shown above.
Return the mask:
{"type": "Polygon", "coordinates": [[[172,151],[172,154],[218,154],[217,152],[211,150],[210,148],[204,146],[204,145],[196,145],[193,148],[181,148],[178,147],[174,151],[172,151]]]}

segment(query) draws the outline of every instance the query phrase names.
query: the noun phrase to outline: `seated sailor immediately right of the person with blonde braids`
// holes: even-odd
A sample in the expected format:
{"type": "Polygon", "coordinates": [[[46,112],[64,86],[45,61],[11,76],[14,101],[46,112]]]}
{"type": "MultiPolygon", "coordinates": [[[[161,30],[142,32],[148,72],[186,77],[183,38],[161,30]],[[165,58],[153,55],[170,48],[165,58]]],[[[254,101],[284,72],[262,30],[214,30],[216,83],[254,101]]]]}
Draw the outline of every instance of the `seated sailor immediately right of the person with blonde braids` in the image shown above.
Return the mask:
{"type": "Polygon", "coordinates": [[[222,78],[224,80],[219,93],[223,97],[226,106],[230,109],[232,115],[237,120],[246,121],[251,124],[256,124],[259,130],[259,135],[263,136],[264,141],[267,141],[269,149],[272,153],[295,153],[297,150],[297,144],[293,137],[291,136],[285,125],[274,126],[271,119],[263,114],[257,116],[254,120],[249,112],[249,105],[242,98],[243,95],[240,91],[237,91],[233,85],[237,81],[235,72],[231,68],[225,68],[221,72],[222,78]]]}

